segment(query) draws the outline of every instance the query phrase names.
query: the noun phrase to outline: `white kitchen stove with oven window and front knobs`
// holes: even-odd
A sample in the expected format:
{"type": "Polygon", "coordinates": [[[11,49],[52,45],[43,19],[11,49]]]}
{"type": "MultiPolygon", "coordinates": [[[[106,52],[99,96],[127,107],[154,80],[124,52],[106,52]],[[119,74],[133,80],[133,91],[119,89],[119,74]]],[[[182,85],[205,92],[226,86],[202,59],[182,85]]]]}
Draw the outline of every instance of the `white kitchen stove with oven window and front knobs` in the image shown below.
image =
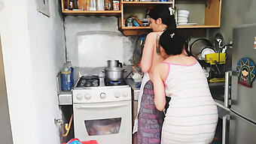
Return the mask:
{"type": "Polygon", "coordinates": [[[132,94],[125,80],[82,76],[72,95],[75,137],[100,144],[132,143],[132,94]]]}

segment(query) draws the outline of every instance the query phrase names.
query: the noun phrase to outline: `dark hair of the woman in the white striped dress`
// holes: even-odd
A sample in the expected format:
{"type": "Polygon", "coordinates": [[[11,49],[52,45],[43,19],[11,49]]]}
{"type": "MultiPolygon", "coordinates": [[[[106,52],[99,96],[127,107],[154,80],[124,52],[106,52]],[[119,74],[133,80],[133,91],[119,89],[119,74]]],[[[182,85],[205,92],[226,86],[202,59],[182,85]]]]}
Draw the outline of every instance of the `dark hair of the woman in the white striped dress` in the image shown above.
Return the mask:
{"type": "Polygon", "coordinates": [[[159,44],[163,47],[167,55],[179,55],[182,50],[185,49],[187,55],[190,55],[188,51],[189,37],[178,32],[175,29],[168,29],[160,36],[159,44]]]}

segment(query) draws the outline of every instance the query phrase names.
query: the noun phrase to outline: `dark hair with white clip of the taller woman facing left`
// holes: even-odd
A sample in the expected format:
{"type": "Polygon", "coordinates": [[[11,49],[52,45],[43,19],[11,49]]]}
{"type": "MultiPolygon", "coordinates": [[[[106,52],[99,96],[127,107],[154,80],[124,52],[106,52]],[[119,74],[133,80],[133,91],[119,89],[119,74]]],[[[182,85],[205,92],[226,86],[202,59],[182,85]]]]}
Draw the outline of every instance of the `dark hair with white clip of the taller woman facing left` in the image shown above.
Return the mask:
{"type": "Polygon", "coordinates": [[[176,23],[175,23],[175,17],[172,11],[169,10],[169,7],[166,5],[156,5],[154,6],[150,12],[148,13],[148,16],[151,17],[154,20],[157,20],[158,18],[161,18],[162,22],[166,24],[168,29],[175,29],[176,23]]]}

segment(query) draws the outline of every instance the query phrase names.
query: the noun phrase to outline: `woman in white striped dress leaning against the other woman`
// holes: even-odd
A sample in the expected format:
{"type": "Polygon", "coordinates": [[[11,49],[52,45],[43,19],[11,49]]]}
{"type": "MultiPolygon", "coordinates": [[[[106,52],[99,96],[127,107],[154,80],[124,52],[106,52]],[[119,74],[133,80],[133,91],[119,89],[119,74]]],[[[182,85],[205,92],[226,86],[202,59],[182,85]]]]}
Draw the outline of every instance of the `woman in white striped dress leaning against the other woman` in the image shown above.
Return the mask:
{"type": "Polygon", "coordinates": [[[160,36],[160,53],[167,57],[154,68],[154,104],[162,111],[171,97],[161,144],[211,143],[218,110],[197,59],[187,55],[188,38],[177,31],[160,36]]]}

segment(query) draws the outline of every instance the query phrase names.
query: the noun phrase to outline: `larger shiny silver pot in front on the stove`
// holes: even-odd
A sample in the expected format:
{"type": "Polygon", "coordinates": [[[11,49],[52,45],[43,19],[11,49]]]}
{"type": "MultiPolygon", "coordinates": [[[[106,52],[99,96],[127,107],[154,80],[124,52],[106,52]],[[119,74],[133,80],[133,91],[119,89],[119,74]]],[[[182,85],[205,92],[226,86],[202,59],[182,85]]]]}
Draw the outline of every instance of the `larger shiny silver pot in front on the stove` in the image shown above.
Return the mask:
{"type": "Polygon", "coordinates": [[[105,78],[111,81],[123,80],[124,68],[105,68],[105,78]]]}

